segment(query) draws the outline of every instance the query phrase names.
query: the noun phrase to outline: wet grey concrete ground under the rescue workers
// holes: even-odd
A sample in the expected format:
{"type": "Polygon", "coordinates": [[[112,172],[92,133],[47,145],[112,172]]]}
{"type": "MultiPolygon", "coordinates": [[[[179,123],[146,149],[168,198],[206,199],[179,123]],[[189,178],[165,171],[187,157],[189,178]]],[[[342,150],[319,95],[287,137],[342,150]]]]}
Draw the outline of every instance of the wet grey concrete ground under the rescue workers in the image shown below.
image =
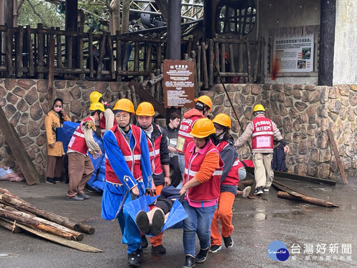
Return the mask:
{"type": "MultiPolygon", "coordinates": [[[[307,195],[339,205],[338,208],[277,197],[277,190],[257,199],[237,197],[234,202],[234,246],[223,246],[209,253],[199,268],[213,267],[357,267],[356,179],[349,184],[328,186],[283,180],[307,195]],[[275,261],[267,250],[272,241],[284,242],[289,258],[275,261]]],[[[89,193],[83,202],[66,201],[67,184],[27,186],[25,182],[0,181],[0,187],[31,204],[96,228],[85,234],[82,243],[100,248],[103,253],[84,253],[31,234],[12,234],[0,228],[0,267],[72,268],[127,267],[126,246],[121,244],[117,221],[100,217],[101,195],[89,193]]],[[[167,230],[163,245],[165,255],[144,249],[145,262],[140,267],[181,267],[184,263],[182,229],[167,230]]],[[[197,244],[197,252],[199,245],[197,244]]]]}

